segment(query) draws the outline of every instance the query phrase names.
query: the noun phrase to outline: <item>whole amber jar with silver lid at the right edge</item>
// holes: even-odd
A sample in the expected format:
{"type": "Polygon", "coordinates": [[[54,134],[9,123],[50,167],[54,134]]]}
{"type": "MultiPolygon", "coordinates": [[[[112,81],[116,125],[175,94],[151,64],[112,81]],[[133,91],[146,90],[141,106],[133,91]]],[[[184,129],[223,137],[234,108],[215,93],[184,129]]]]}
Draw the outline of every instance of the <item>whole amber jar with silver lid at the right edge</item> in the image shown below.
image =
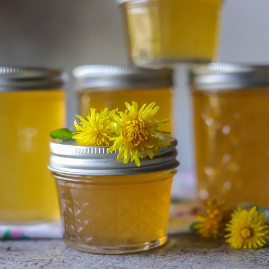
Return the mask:
{"type": "Polygon", "coordinates": [[[192,69],[198,196],[269,205],[269,67],[192,69]]]}

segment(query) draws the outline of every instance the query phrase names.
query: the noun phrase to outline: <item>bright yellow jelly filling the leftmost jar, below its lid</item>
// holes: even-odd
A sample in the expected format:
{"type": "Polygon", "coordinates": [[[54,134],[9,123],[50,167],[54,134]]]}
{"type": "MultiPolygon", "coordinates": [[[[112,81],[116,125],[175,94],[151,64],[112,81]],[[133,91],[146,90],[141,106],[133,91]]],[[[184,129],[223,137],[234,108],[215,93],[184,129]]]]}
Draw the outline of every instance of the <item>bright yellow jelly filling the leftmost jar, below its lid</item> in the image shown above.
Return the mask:
{"type": "Polygon", "coordinates": [[[65,125],[62,90],[0,92],[0,222],[59,216],[49,132],[65,125]]]}

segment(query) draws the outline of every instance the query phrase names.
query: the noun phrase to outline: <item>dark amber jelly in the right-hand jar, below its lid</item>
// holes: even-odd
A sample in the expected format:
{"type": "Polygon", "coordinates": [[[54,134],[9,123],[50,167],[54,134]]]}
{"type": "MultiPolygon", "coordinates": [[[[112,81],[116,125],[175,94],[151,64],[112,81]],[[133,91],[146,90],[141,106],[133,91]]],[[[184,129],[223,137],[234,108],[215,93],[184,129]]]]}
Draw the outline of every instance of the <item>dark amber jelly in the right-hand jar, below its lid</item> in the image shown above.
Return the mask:
{"type": "Polygon", "coordinates": [[[269,88],[194,94],[198,194],[269,205],[269,88]]]}

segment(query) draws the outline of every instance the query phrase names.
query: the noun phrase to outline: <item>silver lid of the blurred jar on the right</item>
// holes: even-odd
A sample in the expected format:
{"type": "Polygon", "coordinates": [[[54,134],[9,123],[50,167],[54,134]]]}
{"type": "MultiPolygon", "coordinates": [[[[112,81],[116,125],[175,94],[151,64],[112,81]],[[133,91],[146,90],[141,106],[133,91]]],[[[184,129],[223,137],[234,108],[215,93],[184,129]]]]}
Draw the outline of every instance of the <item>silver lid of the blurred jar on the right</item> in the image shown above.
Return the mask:
{"type": "Polygon", "coordinates": [[[190,69],[194,90],[228,90],[269,86],[269,66],[212,63],[190,69]]]}

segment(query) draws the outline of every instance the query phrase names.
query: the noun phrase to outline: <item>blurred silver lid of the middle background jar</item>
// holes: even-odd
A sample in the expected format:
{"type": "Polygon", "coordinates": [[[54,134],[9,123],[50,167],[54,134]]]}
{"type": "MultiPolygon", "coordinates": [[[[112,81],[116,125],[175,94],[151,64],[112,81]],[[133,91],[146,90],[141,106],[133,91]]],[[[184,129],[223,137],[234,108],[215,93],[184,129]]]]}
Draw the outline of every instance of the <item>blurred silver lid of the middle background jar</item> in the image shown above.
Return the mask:
{"type": "Polygon", "coordinates": [[[143,89],[165,88],[173,85],[173,71],[169,68],[150,69],[134,66],[88,65],[76,67],[73,75],[78,89],[143,89]]]}

